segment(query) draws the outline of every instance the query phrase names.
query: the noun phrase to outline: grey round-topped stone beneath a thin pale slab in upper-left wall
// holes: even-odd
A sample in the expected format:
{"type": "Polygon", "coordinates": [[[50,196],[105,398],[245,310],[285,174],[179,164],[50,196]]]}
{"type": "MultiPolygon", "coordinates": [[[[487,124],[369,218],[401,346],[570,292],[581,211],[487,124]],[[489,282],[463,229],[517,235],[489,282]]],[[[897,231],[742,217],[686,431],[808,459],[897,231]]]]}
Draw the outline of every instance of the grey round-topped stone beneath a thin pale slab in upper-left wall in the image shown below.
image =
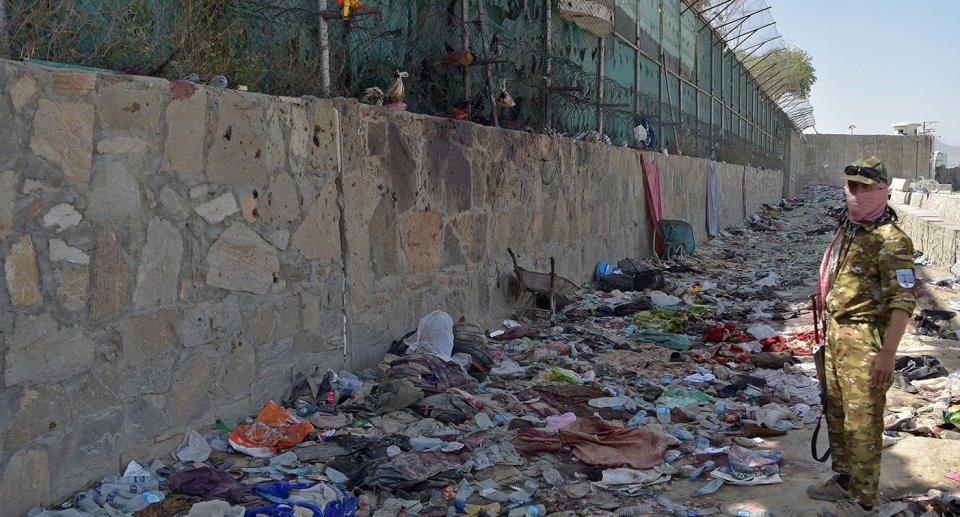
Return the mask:
{"type": "Polygon", "coordinates": [[[93,178],[86,216],[99,223],[140,222],[140,186],[119,162],[108,162],[93,178]]]}

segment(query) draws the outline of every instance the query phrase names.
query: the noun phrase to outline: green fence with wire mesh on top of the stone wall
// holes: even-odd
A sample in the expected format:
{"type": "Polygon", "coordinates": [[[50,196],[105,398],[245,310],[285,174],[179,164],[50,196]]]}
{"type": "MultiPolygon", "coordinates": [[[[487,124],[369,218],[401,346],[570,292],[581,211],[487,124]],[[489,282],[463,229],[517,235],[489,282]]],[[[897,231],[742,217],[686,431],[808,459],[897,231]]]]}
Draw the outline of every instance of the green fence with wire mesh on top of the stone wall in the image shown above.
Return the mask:
{"type": "Polygon", "coordinates": [[[504,88],[516,102],[498,109],[504,127],[633,145],[643,117],[661,149],[782,167],[789,119],[697,9],[595,1],[615,6],[612,33],[559,16],[558,0],[369,0],[349,20],[333,0],[7,0],[7,16],[14,57],[149,72],[172,56],[160,75],[223,73],[287,95],[324,93],[325,26],[331,95],[386,91],[404,70],[411,111],[464,109],[490,124],[492,84],[494,97],[504,88]],[[43,6],[55,12],[38,14],[43,6]],[[451,65],[464,37],[475,61],[451,65]]]}

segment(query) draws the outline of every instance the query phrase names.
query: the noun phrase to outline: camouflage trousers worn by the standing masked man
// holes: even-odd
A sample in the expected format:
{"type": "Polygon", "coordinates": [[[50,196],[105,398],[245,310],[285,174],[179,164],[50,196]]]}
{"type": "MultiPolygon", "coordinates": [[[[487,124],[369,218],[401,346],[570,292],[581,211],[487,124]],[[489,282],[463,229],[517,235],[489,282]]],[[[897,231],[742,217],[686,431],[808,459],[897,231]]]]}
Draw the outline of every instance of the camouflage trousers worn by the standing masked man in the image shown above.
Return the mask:
{"type": "Polygon", "coordinates": [[[880,483],[883,410],[888,383],[870,386],[870,364],[883,341],[871,323],[827,323],[826,383],[828,436],[833,470],[850,476],[850,497],[872,505],[880,483]]]}

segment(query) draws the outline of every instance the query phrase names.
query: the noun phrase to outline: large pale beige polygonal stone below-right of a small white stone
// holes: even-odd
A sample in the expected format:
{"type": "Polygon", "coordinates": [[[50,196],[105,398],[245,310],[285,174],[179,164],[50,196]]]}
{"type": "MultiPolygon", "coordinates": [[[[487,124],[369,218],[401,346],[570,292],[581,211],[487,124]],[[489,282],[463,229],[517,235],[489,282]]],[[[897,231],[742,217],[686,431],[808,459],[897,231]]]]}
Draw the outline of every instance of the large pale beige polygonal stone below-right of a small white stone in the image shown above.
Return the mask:
{"type": "Polygon", "coordinates": [[[210,246],[207,283],[233,291],[266,294],[280,272],[277,250],[243,223],[234,223],[210,246]]]}

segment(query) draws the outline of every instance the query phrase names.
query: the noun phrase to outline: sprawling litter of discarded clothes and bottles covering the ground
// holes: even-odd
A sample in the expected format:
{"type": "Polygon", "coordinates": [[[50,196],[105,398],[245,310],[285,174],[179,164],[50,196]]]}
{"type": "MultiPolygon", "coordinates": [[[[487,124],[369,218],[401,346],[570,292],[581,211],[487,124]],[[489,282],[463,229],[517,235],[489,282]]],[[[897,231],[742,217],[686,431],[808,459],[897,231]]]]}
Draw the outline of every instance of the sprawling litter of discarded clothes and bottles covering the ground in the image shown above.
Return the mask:
{"type": "MultiPolygon", "coordinates": [[[[519,315],[484,329],[432,312],[375,369],[303,375],[255,418],[187,433],[170,458],[131,462],[30,515],[772,515],[713,498],[789,482],[768,442],[820,416],[810,311],[794,301],[809,294],[819,257],[758,270],[759,243],[807,240],[826,223],[778,214],[836,199],[836,189],[807,189],[683,264],[601,263],[598,288],[558,304],[552,321],[519,315]],[[693,495],[673,496],[680,484],[693,495]]],[[[927,358],[897,370],[897,385],[943,420],[892,412],[890,434],[960,436],[950,405],[960,372],[927,358]]],[[[898,515],[958,501],[931,492],[898,515]]]]}

